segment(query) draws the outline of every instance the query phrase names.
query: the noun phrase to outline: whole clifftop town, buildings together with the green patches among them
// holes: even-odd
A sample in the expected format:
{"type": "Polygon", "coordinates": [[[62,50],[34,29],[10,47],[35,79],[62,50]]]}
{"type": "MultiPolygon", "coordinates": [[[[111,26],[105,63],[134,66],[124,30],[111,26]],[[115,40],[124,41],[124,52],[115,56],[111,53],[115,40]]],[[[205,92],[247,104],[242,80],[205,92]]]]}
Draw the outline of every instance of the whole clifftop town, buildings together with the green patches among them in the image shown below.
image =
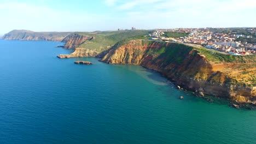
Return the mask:
{"type": "Polygon", "coordinates": [[[256,28],[156,29],[150,40],[196,44],[231,55],[256,54],[256,28]]]}

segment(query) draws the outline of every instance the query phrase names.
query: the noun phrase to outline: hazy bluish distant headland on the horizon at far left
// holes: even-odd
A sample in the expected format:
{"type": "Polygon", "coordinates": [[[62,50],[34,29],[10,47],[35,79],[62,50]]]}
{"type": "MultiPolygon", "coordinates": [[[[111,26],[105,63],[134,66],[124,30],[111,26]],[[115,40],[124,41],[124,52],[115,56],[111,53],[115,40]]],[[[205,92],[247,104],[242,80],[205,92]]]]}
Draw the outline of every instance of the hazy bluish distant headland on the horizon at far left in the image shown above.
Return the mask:
{"type": "Polygon", "coordinates": [[[13,30],[4,34],[5,40],[50,40],[61,41],[69,35],[69,32],[33,32],[27,30],[13,30]]]}

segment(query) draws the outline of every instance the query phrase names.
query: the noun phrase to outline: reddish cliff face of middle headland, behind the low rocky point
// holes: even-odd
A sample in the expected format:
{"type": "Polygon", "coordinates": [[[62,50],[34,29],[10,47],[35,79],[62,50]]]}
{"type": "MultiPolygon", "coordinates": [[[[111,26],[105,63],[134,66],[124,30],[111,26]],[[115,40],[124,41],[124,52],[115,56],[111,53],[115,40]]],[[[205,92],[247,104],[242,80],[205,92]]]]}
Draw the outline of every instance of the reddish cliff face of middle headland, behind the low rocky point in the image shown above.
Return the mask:
{"type": "Polygon", "coordinates": [[[66,43],[65,46],[63,46],[66,49],[75,49],[80,44],[84,43],[86,40],[92,40],[92,39],[93,37],[89,37],[85,35],[70,34],[62,40],[62,43],[66,43]]]}

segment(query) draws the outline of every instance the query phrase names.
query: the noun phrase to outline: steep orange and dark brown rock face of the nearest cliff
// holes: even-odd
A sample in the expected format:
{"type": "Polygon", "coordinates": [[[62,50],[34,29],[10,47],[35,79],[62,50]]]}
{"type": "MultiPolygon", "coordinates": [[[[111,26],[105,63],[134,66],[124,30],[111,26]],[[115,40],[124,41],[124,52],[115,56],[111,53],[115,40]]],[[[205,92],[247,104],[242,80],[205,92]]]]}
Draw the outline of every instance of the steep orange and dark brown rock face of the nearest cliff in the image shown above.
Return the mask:
{"type": "MultiPolygon", "coordinates": [[[[201,55],[194,47],[146,40],[120,42],[101,59],[110,64],[136,64],[159,71],[177,85],[191,91],[225,97],[242,103],[255,103],[255,83],[238,84],[234,77],[201,55]]],[[[223,64],[225,65],[225,64],[223,64]]]]}

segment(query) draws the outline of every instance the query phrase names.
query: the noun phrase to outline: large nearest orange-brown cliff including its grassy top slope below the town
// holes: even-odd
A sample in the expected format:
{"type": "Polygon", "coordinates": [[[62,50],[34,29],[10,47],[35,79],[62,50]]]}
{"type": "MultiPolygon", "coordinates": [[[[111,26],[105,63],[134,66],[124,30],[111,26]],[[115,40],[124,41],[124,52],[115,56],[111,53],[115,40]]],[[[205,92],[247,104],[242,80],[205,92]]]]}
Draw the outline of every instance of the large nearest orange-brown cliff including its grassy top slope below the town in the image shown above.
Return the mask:
{"type": "Polygon", "coordinates": [[[255,55],[235,57],[177,43],[130,40],[114,45],[101,61],[142,65],[191,91],[255,103],[255,59],[255,55]]]}

